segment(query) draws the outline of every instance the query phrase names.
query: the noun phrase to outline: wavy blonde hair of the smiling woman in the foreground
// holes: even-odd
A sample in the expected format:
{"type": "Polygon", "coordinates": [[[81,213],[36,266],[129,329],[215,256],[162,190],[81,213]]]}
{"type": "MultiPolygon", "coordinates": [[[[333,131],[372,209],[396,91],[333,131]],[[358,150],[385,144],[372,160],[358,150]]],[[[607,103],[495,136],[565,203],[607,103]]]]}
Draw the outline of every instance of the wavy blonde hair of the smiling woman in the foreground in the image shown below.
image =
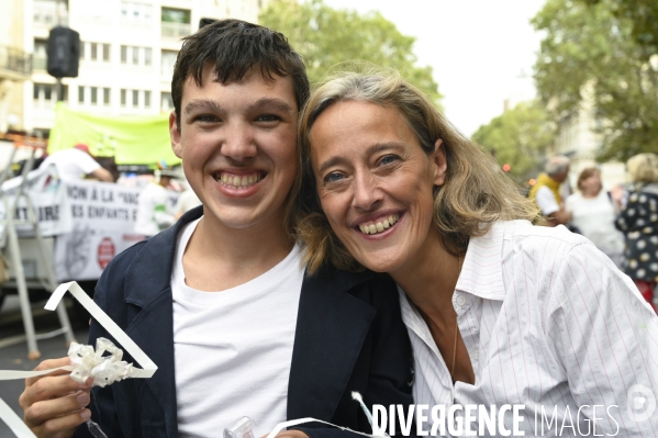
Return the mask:
{"type": "Polygon", "coordinates": [[[343,71],[317,88],[300,114],[302,187],[297,199],[295,232],[310,273],[327,262],[338,269],[364,269],[333,233],[322,211],[311,167],[313,123],[333,103],[349,100],[400,111],[425,153],[433,151],[436,141],[443,139],[447,175],[444,186],[434,191],[434,225],[450,254],[464,255],[469,238],[484,235],[497,221],[542,222],[537,206],[521,195],[491,154],[462,136],[433,102],[399,74],[382,69],[343,71]]]}

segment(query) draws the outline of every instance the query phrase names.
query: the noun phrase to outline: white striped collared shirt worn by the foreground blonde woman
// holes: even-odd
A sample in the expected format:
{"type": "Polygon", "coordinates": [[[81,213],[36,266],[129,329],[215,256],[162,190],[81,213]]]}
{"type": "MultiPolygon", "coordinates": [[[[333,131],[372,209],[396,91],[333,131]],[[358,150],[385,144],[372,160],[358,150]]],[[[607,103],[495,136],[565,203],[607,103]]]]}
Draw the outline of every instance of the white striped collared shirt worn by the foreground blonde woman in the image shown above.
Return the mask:
{"type": "MultiPolygon", "coordinates": [[[[445,405],[446,412],[453,404],[525,405],[525,436],[587,435],[588,419],[596,417],[596,435],[658,437],[658,317],[584,237],[512,221],[470,239],[453,306],[475,385],[453,388],[427,325],[399,290],[414,351],[416,404],[445,405]],[[636,384],[649,391],[644,405],[638,392],[628,394],[636,384]],[[651,406],[649,419],[632,419],[651,406]]],[[[428,430],[432,420],[425,425],[428,430]]]]}

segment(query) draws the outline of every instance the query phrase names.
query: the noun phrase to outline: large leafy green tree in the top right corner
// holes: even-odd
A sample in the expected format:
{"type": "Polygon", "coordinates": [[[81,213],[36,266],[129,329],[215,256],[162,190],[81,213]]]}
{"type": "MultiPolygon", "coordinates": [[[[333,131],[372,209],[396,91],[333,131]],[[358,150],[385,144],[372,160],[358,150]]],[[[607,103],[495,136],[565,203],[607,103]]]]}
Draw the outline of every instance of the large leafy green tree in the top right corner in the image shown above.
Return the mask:
{"type": "Polygon", "coordinates": [[[592,100],[599,160],[658,150],[658,55],[638,42],[646,32],[620,9],[627,1],[548,0],[532,21],[546,33],[535,64],[539,94],[558,121],[576,114],[583,96],[592,100]]]}

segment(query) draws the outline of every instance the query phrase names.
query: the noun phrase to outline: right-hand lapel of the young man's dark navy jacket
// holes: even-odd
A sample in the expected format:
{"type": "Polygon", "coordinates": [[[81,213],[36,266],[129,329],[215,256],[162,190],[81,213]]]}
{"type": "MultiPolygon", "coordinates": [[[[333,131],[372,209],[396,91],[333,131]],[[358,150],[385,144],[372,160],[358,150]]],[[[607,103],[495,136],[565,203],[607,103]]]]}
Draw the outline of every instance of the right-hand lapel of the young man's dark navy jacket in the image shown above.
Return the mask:
{"type": "Polygon", "coordinates": [[[376,314],[347,292],[373,276],[326,269],[304,278],[288,384],[289,419],[332,419],[376,314]]]}

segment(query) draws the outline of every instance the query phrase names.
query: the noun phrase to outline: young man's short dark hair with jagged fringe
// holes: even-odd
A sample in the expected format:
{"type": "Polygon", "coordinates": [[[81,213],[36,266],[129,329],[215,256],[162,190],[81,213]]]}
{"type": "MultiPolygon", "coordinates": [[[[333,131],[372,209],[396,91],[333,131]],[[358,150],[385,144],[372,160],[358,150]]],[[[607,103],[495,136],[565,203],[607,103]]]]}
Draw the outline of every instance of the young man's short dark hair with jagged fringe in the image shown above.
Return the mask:
{"type": "Polygon", "coordinates": [[[239,81],[254,67],[263,79],[290,76],[298,110],[309,99],[309,78],[301,55],[290,47],[283,34],[242,20],[205,23],[197,33],[183,38],[171,78],[171,100],[180,127],[182,88],[192,78],[201,87],[203,69],[212,66],[221,83],[239,81]]]}

